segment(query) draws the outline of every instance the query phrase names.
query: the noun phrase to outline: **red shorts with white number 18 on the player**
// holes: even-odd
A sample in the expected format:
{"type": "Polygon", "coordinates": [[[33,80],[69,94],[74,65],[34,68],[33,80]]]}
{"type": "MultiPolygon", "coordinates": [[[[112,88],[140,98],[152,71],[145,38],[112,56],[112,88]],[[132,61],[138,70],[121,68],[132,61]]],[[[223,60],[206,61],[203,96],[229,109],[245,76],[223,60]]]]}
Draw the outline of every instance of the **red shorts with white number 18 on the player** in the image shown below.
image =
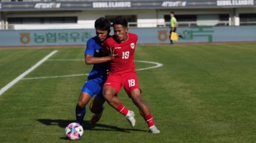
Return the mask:
{"type": "Polygon", "coordinates": [[[139,80],[137,74],[135,72],[126,72],[126,73],[111,73],[109,72],[108,79],[104,83],[103,86],[112,86],[117,94],[121,90],[121,87],[124,87],[127,95],[130,97],[130,93],[134,89],[139,89],[139,80]]]}

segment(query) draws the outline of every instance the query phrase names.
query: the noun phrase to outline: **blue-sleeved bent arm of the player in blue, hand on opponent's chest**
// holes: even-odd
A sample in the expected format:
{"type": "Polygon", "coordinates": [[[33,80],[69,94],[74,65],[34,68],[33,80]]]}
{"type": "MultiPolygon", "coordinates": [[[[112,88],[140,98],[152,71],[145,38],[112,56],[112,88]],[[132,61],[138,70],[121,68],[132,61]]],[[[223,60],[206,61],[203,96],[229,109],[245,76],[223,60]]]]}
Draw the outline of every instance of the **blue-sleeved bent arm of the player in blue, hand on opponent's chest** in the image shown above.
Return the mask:
{"type": "Polygon", "coordinates": [[[92,40],[87,41],[87,48],[85,50],[85,64],[97,64],[111,61],[116,56],[113,52],[110,52],[106,57],[94,57],[94,42],[92,40]]]}

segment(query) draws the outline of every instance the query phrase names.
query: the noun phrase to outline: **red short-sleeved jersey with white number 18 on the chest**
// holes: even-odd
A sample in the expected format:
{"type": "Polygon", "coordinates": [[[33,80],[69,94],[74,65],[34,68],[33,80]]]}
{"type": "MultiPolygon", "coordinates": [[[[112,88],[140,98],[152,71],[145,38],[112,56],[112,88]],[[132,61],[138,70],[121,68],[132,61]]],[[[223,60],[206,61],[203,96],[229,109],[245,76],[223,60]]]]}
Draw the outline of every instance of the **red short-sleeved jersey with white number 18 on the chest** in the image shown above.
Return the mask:
{"type": "Polygon", "coordinates": [[[138,41],[138,36],[134,33],[127,33],[125,42],[117,42],[114,35],[106,39],[102,49],[115,49],[117,56],[111,61],[110,72],[130,72],[135,71],[134,52],[138,41]]]}

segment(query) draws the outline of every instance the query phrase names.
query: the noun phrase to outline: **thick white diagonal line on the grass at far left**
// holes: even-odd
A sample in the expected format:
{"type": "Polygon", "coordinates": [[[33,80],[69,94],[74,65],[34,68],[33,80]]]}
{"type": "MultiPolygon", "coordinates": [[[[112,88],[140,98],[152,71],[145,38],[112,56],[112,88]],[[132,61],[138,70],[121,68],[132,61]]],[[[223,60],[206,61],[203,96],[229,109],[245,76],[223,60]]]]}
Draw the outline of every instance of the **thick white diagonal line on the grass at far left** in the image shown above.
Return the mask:
{"type": "Polygon", "coordinates": [[[7,85],[5,85],[1,90],[0,90],[0,95],[2,95],[5,91],[7,91],[8,89],[10,89],[10,87],[12,87],[14,84],[16,84],[19,80],[21,80],[22,78],[24,78],[27,74],[29,74],[30,72],[33,71],[33,69],[35,69],[36,67],[38,67],[39,65],[41,65],[42,63],[44,63],[44,61],[46,61],[48,58],[50,58],[51,56],[53,56],[53,54],[55,54],[56,52],[58,52],[57,50],[54,50],[53,52],[51,52],[50,54],[48,54],[46,57],[44,57],[44,59],[42,59],[41,61],[38,61],[38,63],[35,63],[35,65],[33,65],[32,67],[30,67],[30,69],[27,69],[26,72],[23,72],[23,74],[20,74],[20,76],[18,76],[17,78],[15,78],[14,80],[12,80],[12,82],[8,83],[7,85]]]}

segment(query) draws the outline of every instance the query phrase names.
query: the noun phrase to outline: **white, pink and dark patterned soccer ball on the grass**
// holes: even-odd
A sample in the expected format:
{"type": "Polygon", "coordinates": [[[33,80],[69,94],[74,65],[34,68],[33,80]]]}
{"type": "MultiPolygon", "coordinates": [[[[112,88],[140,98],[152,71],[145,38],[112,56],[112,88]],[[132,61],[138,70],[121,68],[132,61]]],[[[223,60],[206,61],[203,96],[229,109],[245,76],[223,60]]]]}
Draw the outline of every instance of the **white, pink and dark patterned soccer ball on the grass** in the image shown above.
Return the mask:
{"type": "Polygon", "coordinates": [[[65,129],[65,134],[68,140],[79,140],[83,136],[83,127],[79,123],[70,123],[65,129]]]}

